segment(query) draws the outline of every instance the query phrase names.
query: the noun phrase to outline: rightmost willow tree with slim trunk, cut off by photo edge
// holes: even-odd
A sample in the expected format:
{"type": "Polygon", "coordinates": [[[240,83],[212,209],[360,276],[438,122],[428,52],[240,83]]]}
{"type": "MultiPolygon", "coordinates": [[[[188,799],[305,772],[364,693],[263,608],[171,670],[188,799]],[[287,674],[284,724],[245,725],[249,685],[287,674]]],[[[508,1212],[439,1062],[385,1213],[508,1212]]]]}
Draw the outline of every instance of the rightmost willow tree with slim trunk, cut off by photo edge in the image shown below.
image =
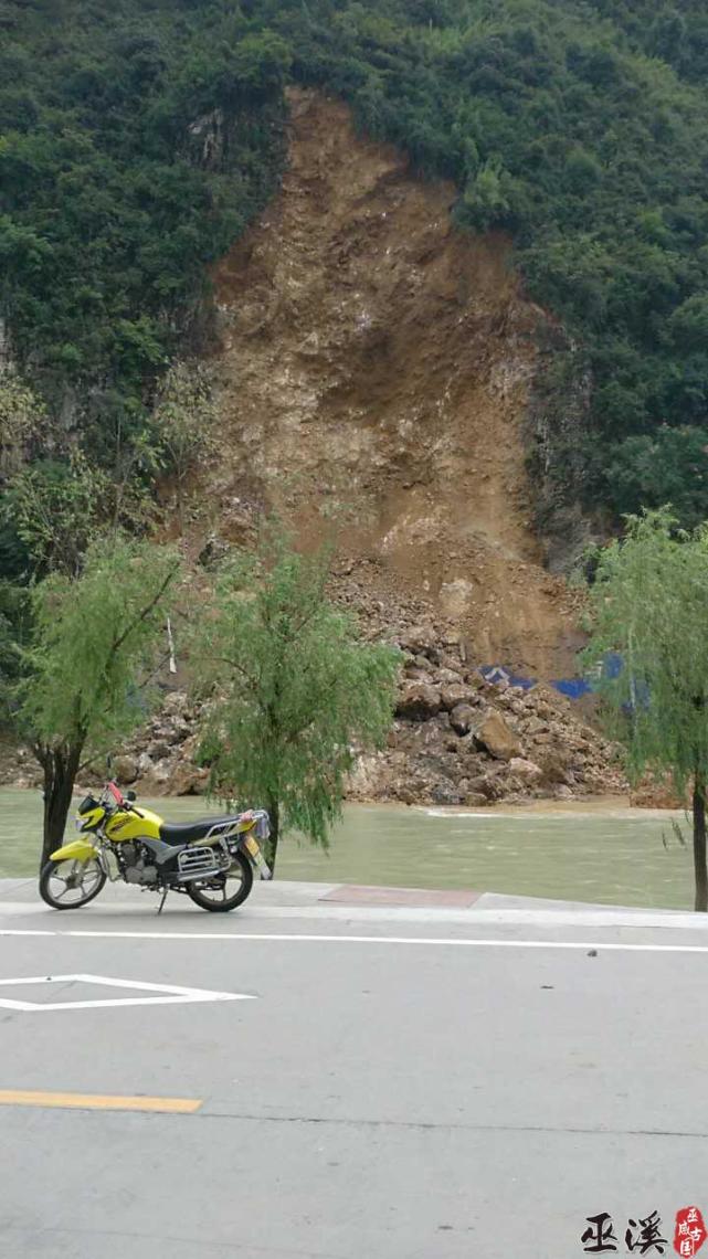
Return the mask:
{"type": "Polygon", "coordinates": [[[600,555],[586,661],[630,777],[669,778],[693,806],[695,909],[708,910],[708,528],[677,529],[670,509],[626,517],[600,555]],[[619,653],[621,667],[608,669],[619,653]]]}

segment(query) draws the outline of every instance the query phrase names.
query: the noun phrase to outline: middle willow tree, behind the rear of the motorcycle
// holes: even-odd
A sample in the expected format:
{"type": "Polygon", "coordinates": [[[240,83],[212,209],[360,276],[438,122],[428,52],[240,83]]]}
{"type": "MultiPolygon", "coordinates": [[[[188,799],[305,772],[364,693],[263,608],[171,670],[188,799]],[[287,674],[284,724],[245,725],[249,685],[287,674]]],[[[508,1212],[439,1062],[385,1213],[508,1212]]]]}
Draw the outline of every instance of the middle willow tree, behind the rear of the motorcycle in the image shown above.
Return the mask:
{"type": "Polygon", "coordinates": [[[222,567],[191,652],[212,789],[268,811],[271,870],[288,828],[328,846],[354,745],[380,747],[393,718],[399,652],[362,640],[328,575],[326,550],[301,555],[267,529],[222,567]]]}

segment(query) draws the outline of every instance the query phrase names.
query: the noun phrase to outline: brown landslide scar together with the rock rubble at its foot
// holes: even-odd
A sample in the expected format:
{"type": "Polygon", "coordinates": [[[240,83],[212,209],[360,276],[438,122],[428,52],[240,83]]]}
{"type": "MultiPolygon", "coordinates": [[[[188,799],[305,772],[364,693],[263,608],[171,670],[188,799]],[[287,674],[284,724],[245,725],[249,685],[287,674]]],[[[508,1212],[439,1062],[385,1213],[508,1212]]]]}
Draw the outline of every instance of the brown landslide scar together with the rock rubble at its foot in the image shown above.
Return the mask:
{"type": "MultiPolygon", "coordinates": [[[[543,687],[485,686],[475,667],[574,671],[577,597],[542,567],[524,465],[544,315],[505,239],[452,228],[451,186],[357,137],[339,102],[297,91],[291,107],[282,191],[214,273],[220,449],[195,478],[188,550],[248,538],[263,504],[306,543],[336,519],[333,593],[368,636],[406,648],[388,747],[362,762],[353,796],[621,792],[615,750],[581,710],[543,687]]],[[[123,781],[204,789],[195,724],[173,695],[131,740],[123,781]]],[[[28,753],[9,752],[0,781],[35,781],[28,753]]]]}

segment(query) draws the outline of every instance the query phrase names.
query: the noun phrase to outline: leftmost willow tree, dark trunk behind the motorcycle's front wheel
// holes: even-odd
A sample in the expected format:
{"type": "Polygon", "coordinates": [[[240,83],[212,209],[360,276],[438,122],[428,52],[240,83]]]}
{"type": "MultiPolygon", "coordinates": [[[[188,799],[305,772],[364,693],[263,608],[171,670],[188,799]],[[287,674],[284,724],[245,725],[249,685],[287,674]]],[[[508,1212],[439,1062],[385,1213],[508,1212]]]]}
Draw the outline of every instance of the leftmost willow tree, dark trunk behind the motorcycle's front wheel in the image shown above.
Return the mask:
{"type": "Polygon", "coordinates": [[[89,544],[78,574],[52,573],[31,592],[15,716],[44,772],[42,865],[84,762],[145,719],[178,572],[169,549],[110,535],[89,544]]]}

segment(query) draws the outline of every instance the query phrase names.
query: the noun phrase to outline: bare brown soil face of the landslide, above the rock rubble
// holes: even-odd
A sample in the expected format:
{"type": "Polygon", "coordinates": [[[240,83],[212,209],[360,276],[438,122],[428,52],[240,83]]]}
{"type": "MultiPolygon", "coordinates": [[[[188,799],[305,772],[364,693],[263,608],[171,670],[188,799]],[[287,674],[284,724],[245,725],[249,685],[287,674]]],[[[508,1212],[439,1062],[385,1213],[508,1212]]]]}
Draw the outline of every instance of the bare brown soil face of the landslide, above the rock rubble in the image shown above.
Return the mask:
{"type": "Polygon", "coordinates": [[[276,502],[378,598],[411,598],[480,663],[572,672],[574,599],[540,565],[523,424],[543,312],[454,190],[295,91],[281,194],[217,267],[223,410],[210,526],[276,502]]]}

